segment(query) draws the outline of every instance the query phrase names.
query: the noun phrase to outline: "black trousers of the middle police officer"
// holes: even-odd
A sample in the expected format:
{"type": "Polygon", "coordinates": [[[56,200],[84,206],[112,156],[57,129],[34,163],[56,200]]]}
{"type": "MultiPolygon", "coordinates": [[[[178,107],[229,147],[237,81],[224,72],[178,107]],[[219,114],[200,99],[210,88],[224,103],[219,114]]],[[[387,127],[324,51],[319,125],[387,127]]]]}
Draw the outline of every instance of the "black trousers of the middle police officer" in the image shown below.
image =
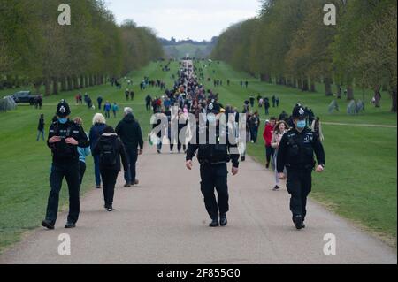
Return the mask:
{"type": "Polygon", "coordinates": [[[226,213],[229,210],[226,164],[201,164],[200,170],[204,205],[211,219],[218,219],[219,214],[226,213]],[[214,188],[218,193],[217,201],[214,188]]]}

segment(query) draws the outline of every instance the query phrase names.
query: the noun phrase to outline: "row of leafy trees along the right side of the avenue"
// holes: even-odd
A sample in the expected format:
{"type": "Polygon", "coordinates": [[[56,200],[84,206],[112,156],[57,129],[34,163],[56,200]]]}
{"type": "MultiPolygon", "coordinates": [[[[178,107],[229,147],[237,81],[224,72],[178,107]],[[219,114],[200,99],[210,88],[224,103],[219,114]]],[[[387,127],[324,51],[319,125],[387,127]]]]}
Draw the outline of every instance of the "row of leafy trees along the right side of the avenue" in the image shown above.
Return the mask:
{"type": "Polygon", "coordinates": [[[266,0],[259,17],[221,34],[211,57],[303,91],[316,82],[325,95],[345,86],[348,99],[354,85],[388,90],[396,112],[396,9],[395,0],[266,0]],[[337,8],[335,26],[324,23],[325,4],[337,8]]]}

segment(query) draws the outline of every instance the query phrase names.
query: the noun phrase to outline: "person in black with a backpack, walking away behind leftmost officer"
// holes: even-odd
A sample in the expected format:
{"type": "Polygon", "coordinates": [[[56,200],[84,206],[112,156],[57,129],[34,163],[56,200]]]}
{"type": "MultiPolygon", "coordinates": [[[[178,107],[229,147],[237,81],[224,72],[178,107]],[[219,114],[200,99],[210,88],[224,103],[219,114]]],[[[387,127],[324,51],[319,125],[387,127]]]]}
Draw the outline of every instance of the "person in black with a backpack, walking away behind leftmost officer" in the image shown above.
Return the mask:
{"type": "Polygon", "coordinates": [[[93,149],[93,155],[100,156],[99,166],[103,178],[104,208],[105,210],[113,211],[116,179],[118,179],[121,169],[120,156],[125,171],[128,171],[128,162],[125,146],[111,126],[106,126],[103,130],[103,134],[93,149]]]}

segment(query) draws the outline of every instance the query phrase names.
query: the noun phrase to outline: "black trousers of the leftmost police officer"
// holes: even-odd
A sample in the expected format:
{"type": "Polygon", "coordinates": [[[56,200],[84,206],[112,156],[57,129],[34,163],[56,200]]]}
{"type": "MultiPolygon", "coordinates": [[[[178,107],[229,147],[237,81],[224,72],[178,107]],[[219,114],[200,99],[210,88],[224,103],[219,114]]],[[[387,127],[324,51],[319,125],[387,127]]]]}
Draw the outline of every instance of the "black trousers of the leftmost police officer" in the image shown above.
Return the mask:
{"type": "Polygon", "coordinates": [[[50,195],[47,204],[46,220],[55,225],[57,221],[59,192],[62,181],[65,178],[69,191],[69,215],[68,222],[76,223],[80,213],[80,165],[78,162],[72,164],[52,164],[50,175],[50,195]]]}

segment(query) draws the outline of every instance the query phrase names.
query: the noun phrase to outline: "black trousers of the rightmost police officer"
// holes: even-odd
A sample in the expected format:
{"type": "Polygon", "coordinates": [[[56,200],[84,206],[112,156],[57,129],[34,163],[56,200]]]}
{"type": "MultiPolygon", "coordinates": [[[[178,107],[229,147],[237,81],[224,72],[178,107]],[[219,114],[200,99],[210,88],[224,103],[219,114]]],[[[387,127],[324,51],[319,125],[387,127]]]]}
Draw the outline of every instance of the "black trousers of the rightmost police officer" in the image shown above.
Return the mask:
{"type": "Polygon", "coordinates": [[[312,188],[312,170],[287,168],[287,192],[291,195],[290,210],[293,217],[307,215],[307,197],[312,188]]]}

